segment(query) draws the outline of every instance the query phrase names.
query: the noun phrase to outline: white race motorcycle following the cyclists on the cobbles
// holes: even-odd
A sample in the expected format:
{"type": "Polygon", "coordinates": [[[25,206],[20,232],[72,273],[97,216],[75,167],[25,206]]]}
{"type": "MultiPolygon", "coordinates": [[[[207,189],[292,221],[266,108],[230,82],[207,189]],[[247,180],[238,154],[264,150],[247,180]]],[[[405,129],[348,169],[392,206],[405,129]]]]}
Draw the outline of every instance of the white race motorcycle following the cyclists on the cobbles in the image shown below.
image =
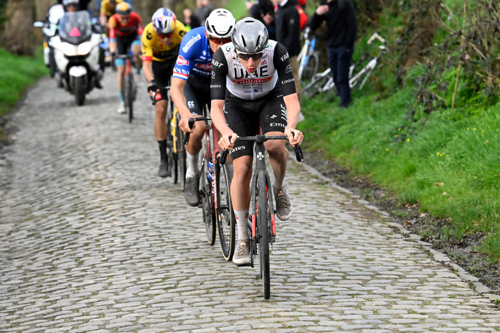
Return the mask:
{"type": "Polygon", "coordinates": [[[74,95],[77,105],[83,105],[85,94],[102,79],[101,34],[93,27],[86,10],[64,12],[57,26],[57,33],[48,41],[57,67],[54,78],[74,95]]]}

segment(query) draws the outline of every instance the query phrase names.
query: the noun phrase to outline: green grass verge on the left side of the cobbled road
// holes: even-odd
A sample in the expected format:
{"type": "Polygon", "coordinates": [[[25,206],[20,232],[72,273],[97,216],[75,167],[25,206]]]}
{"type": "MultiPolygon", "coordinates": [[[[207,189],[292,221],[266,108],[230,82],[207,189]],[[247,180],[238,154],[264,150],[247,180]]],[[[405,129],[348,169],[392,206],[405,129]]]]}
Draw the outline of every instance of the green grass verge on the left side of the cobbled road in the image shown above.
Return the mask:
{"type": "Polygon", "coordinates": [[[24,89],[47,75],[41,48],[35,57],[18,56],[0,47],[0,115],[14,106],[24,89]]]}

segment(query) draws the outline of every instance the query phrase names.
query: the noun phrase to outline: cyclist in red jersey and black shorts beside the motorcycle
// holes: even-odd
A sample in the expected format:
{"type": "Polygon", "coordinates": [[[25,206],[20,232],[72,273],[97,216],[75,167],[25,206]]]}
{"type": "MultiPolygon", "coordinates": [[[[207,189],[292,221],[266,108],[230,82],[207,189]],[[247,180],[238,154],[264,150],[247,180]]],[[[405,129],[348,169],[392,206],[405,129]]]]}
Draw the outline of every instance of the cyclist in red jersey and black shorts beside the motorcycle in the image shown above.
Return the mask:
{"type": "MultiPolygon", "coordinates": [[[[133,12],[130,4],[120,2],[116,5],[116,12],[109,17],[109,52],[111,54],[127,54],[131,49],[136,68],[140,68],[140,37],[142,36],[142,20],[139,14],[133,12]]],[[[114,59],[117,71],[119,105],[118,113],[125,113],[125,102],[123,101],[123,72],[125,71],[125,60],[114,59]]]]}

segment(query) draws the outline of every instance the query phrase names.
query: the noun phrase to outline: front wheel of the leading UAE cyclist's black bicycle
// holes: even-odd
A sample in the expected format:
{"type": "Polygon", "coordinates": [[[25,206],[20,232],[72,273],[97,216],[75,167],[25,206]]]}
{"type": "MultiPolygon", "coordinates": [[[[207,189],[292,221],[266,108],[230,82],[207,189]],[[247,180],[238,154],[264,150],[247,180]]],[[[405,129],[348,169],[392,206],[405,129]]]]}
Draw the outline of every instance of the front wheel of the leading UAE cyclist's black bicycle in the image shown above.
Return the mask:
{"type": "Polygon", "coordinates": [[[264,173],[259,173],[257,176],[258,196],[255,196],[255,227],[259,230],[256,232],[258,237],[258,253],[259,253],[259,269],[262,277],[262,290],[264,299],[270,297],[270,272],[269,272],[269,229],[267,227],[267,182],[264,173]]]}

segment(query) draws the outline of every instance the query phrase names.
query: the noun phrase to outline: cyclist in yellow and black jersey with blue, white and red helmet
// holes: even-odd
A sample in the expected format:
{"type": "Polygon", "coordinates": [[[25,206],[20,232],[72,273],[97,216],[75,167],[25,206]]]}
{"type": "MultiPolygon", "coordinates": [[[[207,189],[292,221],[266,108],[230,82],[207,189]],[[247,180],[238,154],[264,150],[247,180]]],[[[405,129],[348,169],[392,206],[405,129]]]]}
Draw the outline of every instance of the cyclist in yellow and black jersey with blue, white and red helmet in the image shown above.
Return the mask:
{"type": "Polygon", "coordinates": [[[168,8],[159,8],[142,32],[142,71],[148,82],[147,91],[152,97],[155,91],[154,136],[158,141],[160,163],[158,176],[166,177],[166,108],[167,91],[165,86],[170,85],[173,66],[179,52],[182,36],[187,32],[184,24],[176,19],[175,14],[168,8]]]}

